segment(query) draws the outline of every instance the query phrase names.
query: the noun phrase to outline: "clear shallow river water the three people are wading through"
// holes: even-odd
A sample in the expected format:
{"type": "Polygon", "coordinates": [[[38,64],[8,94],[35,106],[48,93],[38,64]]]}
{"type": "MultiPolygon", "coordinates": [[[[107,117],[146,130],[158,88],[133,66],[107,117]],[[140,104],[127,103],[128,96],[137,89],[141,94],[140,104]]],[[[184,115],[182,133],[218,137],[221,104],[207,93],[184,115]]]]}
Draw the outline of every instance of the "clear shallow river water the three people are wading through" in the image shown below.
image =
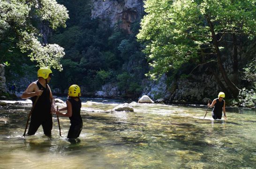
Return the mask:
{"type": "Polygon", "coordinates": [[[117,105],[84,100],[84,125],[76,143],[66,140],[68,118],[60,117],[62,137],[54,116],[51,138],[42,127],[24,138],[31,105],[2,107],[0,168],[255,168],[255,111],[227,109],[227,120],[212,120],[211,111],[203,119],[206,108],[160,104],[133,104],[134,112],[105,113],[117,105]]]}

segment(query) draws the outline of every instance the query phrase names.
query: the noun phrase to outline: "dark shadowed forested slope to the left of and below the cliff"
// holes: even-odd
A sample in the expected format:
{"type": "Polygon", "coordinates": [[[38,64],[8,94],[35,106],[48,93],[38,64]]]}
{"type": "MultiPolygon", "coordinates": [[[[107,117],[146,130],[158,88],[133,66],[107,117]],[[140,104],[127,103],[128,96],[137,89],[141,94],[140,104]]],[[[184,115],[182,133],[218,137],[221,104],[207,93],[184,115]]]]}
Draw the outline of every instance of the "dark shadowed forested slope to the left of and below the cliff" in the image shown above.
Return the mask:
{"type": "MultiPolygon", "coordinates": [[[[140,44],[136,42],[135,33],[139,24],[132,25],[135,31],[128,34],[122,29],[113,30],[106,21],[90,18],[90,1],[59,0],[68,8],[70,19],[66,29],[58,29],[51,37],[51,43],[58,43],[65,48],[65,57],[61,61],[63,72],[57,73],[64,80],[55,81],[53,87],[65,90],[68,85],[76,82],[86,86],[88,92],[98,90],[107,83],[120,82],[117,75],[127,72],[129,76],[136,74],[139,78],[146,72],[144,54],[140,44]],[[136,64],[132,64],[132,62],[136,64]],[[61,82],[61,83],[60,83],[61,82]]],[[[54,72],[55,74],[55,72],[54,72]]],[[[139,83],[140,79],[131,82],[139,83]]],[[[132,89],[130,91],[135,91],[132,89]]]]}

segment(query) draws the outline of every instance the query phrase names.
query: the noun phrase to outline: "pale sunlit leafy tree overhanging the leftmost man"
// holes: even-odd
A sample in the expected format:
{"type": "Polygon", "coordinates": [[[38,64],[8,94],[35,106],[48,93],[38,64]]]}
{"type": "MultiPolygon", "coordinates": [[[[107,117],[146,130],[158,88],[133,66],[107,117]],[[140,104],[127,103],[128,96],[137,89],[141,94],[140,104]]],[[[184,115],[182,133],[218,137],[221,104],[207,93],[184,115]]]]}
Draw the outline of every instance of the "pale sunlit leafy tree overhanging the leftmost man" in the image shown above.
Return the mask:
{"type": "Polygon", "coordinates": [[[40,25],[54,30],[65,27],[67,19],[66,7],[55,0],[0,0],[0,51],[19,48],[38,66],[62,70],[64,49],[57,44],[43,44],[38,29],[40,25]]]}

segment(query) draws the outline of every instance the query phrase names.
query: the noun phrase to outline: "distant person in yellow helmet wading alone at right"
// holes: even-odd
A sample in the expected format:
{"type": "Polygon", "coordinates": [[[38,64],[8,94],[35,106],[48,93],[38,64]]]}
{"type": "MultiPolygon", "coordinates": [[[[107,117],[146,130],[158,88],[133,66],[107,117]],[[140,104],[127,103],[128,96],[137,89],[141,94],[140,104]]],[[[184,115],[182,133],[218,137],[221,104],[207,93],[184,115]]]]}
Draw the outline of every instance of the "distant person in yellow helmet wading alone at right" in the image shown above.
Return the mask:
{"type": "Polygon", "coordinates": [[[224,117],[226,119],[226,109],[225,109],[225,100],[223,100],[223,98],[225,98],[225,93],[224,92],[219,92],[218,93],[218,98],[214,99],[210,105],[210,103],[208,103],[208,107],[213,107],[212,110],[212,118],[213,119],[221,119],[222,118],[222,110],[224,113],[224,117]]]}

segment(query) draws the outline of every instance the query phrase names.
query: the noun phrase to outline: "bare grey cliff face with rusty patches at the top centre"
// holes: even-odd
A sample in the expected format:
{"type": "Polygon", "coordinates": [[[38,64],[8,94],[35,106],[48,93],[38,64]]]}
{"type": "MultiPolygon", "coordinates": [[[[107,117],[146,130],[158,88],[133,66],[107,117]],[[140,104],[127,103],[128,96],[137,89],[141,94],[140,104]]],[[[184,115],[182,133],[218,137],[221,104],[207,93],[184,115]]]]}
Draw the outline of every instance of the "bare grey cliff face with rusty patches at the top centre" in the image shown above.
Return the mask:
{"type": "Polygon", "coordinates": [[[131,33],[131,24],[141,19],[143,11],[143,0],[94,0],[91,18],[108,21],[111,27],[120,23],[120,28],[131,33]]]}

